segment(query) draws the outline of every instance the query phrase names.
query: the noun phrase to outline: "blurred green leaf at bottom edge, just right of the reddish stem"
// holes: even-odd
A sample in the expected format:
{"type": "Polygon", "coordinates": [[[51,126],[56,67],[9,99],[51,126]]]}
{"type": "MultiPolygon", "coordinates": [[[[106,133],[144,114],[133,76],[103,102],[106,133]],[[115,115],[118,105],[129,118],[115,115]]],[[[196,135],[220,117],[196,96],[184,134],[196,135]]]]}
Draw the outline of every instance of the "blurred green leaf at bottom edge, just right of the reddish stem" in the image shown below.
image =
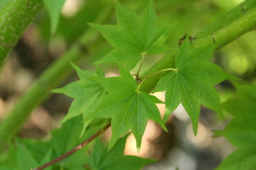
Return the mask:
{"type": "Polygon", "coordinates": [[[116,145],[109,151],[107,151],[107,148],[104,148],[99,140],[96,140],[91,153],[89,166],[92,169],[98,170],[139,170],[146,164],[154,162],[154,160],[139,158],[137,156],[123,156],[127,137],[128,135],[117,140],[116,145]]]}

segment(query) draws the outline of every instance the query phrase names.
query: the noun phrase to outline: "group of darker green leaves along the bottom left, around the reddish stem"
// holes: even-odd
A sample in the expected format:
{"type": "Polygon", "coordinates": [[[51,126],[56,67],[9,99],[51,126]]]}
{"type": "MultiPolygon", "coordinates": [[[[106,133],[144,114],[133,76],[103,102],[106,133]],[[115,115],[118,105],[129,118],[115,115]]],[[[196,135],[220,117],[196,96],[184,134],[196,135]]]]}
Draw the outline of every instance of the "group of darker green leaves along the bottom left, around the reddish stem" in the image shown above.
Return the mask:
{"type": "MultiPolygon", "coordinates": [[[[15,145],[9,145],[9,152],[7,154],[7,161],[3,166],[0,165],[1,170],[6,169],[34,169],[41,166],[44,163],[48,163],[73,149],[93,135],[101,124],[92,124],[86,133],[80,136],[81,124],[80,117],[71,119],[63,124],[62,128],[56,129],[51,132],[51,140],[34,141],[27,139],[15,140],[15,145]]],[[[104,148],[100,140],[96,140],[93,145],[91,154],[88,154],[91,150],[91,145],[86,145],[82,149],[76,151],[72,155],[68,156],[64,160],[46,168],[47,170],[54,169],[122,169],[130,167],[130,169],[141,169],[148,163],[154,162],[153,160],[139,158],[136,156],[123,156],[123,150],[125,147],[126,137],[117,141],[112,150],[107,152],[107,148],[104,148]]]]}

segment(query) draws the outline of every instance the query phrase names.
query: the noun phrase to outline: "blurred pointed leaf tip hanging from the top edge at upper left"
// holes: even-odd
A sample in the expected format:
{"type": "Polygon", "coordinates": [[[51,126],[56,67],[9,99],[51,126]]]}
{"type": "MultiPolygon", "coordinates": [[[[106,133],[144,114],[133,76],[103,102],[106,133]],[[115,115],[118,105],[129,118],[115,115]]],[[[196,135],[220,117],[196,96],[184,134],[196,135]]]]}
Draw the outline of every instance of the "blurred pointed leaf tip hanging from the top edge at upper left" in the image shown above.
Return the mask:
{"type": "Polygon", "coordinates": [[[55,33],[59,24],[59,13],[66,0],[44,0],[44,6],[51,20],[51,34],[55,33]]]}

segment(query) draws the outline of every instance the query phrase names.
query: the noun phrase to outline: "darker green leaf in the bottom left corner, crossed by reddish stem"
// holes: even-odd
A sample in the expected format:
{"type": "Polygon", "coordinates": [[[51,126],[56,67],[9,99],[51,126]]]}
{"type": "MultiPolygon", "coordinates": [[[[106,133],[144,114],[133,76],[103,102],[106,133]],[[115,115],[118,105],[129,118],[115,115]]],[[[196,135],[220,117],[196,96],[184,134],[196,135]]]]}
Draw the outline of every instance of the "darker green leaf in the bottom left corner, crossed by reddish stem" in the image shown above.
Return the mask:
{"type": "MultiPolygon", "coordinates": [[[[77,117],[62,124],[62,128],[51,132],[51,140],[49,141],[17,138],[15,145],[9,144],[7,163],[5,163],[5,166],[0,166],[0,169],[35,169],[79,145],[99,128],[95,124],[95,127],[88,129],[86,134],[80,138],[82,124],[79,121],[80,117],[77,117]]],[[[59,169],[60,167],[65,169],[83,169],[84,164],[88,162],[88,149],[88,147],[84,147],[65,160],[46,169],[59,169]]]]}

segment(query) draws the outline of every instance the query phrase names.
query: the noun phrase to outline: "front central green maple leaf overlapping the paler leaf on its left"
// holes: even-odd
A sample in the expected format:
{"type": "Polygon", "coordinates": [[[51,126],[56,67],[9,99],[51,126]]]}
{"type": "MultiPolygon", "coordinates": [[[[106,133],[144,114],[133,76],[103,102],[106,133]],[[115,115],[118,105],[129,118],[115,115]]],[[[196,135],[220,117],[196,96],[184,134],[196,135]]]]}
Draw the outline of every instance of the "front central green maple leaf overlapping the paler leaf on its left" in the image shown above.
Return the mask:
{"type": "Polygon", "coordinates": [[[117,139],[131,129],[139,150],[148,119],[152,119],[165,129],[160,111],[155,105],[162,101],[139,91],[136,81],[125,69],[121,69],[120,75],[121,77],[94,78],[102,84],[108,94],[99,104],[98,109],[85,119],[112,118],[112,140],[109,148],[112,148],[117,139]]]}

